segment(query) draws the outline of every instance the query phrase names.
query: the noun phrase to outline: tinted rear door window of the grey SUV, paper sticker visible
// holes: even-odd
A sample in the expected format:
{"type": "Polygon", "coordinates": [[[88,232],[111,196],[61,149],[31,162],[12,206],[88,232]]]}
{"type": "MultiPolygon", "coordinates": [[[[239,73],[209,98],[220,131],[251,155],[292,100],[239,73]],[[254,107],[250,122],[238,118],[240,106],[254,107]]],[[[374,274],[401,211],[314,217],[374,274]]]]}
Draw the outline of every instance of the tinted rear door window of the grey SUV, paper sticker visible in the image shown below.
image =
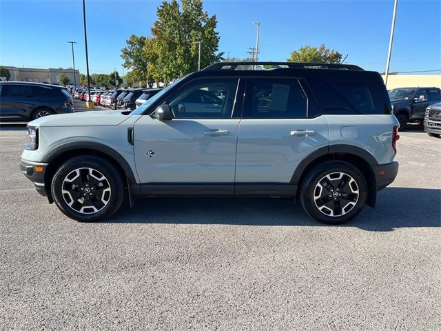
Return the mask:
{"type": "Polygon", "coordinates": [[[296,119],[307,117],[307,96],[297,79],[253,79],[244,118],[296,119]]]}

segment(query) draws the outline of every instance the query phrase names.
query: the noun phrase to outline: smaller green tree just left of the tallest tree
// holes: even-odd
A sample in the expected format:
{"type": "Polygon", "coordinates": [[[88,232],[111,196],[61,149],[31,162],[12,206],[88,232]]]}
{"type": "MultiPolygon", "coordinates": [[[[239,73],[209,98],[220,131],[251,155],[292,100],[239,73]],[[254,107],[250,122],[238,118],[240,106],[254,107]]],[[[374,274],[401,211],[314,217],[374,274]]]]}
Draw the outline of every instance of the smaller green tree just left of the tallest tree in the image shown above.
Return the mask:
{"type": "Polygon", "coordinates": [[[145,44],[147,37],[132,34],[125,41],[126,46],[121,50],[121,57],[124,60],[123,67],[130,69],[131,77],[138,81],[147,81],[147,54],[145,44]]]}

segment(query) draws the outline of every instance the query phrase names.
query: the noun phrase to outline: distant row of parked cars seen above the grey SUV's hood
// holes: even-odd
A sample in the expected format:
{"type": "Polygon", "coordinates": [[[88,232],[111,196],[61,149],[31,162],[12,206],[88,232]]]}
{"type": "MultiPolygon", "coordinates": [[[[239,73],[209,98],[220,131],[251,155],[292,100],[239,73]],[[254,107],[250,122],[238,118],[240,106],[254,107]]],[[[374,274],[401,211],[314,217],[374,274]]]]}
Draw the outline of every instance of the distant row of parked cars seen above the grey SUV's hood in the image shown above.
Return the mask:
{"type": "MultiPolygon", "coordinates": [[[[90,91],[90,101],[95,105],[115,110],[134,110],[160,90],[161,88],[118,88],[112,91],[90,91]]],[[[76,90],[74,97],[81,101],[89,101],[87,90],[76,90]]]]}

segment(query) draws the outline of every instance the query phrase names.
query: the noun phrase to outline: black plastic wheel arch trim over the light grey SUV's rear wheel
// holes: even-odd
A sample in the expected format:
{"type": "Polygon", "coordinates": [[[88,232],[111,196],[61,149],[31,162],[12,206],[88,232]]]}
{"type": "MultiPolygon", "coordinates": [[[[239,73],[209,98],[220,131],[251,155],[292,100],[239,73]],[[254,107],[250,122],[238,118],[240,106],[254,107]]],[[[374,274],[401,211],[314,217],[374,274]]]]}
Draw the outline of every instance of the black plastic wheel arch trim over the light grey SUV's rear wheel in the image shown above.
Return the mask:
{"type": "Polygon", "coordinates": [[[310,170],[321,162],[329,160],[346,161],[355,165],[362,172],[367,181],[368,194],[366,204],[375,208],[377,183],[371,165],[377,165],[378,161],[376,161],[372,154],[356,146],[331,145],[316,150],[299,163],[291,177],[291,183],[296,183],[301,190],[302,183],[310,170]]]}

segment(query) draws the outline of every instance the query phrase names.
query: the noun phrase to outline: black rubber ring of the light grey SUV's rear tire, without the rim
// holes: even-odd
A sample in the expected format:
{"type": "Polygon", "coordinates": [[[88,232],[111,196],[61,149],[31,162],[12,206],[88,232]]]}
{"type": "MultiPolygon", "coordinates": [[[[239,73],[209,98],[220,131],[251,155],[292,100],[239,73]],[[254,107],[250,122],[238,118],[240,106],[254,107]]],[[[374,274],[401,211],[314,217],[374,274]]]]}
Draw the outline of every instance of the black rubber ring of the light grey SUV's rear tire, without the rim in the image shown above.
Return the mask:
{"type": "Polygon", "coordinates": [[[302,207],[305,209],[309,216],[314,219],[327,224],[340,224],[349,221],[356,217],[365,206],[367,200],[367,182],[362,173],[355,168],[353,165],[343,162],[343,161],[332,161],[327,163],[326,165],[321,165],[316,168],[309,174],[307,179],[305,180],[304,185],[302,185],[301,192],[301,203],[302,207]],[[358,185],[358,201],[356,205],[345,215],[341,217],[331,217],[326,214],[323,214],[316,207],[316,203],[314,202],[314,190],[316,185],[320,179],[325,177],[327,174],[331,174],[332,172],[343,172],[345,174],[349,174],[358,185]]]}

